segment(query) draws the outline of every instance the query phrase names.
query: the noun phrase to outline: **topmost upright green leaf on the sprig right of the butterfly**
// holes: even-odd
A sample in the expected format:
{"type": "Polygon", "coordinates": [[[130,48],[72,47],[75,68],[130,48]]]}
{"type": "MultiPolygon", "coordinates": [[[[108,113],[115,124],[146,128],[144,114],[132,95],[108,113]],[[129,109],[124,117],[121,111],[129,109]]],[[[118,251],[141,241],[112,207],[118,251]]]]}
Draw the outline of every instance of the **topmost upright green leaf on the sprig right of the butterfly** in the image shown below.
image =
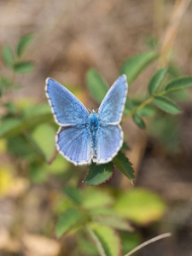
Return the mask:
{"type": "Polygon", "coordinates": [[[158,70],[156,73],[154,73],[154,76],[152,77],[152,79],[148,84],[148,92],[150,95],[154,94],[154,92],[156,92],[160,88],[160,84],[165,78],[166,71],[167,71],[167,67],[163,67],[160,70],[158,70]]]}

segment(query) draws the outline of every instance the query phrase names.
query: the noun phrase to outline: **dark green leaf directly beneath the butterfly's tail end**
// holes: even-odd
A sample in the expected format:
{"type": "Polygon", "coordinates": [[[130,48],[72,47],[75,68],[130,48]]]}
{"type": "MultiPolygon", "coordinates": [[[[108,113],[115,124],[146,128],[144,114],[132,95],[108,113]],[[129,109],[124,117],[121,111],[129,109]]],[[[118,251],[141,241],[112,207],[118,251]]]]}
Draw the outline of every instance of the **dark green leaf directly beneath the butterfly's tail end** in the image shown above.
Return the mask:
{"type": "Polygon", "coordinates": [[[92,163],[84,183],[88,185],[99,185],[105,183],[113,174],[112,162],[105,165],[96,165],[92,163]]]}

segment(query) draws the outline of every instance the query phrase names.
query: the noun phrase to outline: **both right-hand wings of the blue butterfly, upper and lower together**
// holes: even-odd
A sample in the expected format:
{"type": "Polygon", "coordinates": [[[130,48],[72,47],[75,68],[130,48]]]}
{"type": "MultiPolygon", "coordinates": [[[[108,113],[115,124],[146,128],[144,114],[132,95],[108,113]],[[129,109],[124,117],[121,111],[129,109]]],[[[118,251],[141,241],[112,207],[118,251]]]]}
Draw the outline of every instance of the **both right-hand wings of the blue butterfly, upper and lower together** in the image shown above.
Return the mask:
{"type": "Polygon", "coordinates": [[[117,79],[99,108],[100,128],[98,131],[96,163],[104,164],[113,160],[123,144],[123,131],[119,122],[123,115],[128,90],[126,76],[117,79]]]}

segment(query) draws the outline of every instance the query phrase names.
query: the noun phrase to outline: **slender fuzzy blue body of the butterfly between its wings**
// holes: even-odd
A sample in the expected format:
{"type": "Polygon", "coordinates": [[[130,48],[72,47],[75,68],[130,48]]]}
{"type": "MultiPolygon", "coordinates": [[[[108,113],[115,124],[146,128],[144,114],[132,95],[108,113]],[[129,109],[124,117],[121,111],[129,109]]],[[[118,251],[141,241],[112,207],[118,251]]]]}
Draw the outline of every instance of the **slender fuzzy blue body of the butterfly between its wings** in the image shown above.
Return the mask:
{"type": "Polygon", "coordinates": [[[93,157],[96,157],[97,134],[99,129],[98,113],[92,112],[89,115],[90,144],[93,157]]]}

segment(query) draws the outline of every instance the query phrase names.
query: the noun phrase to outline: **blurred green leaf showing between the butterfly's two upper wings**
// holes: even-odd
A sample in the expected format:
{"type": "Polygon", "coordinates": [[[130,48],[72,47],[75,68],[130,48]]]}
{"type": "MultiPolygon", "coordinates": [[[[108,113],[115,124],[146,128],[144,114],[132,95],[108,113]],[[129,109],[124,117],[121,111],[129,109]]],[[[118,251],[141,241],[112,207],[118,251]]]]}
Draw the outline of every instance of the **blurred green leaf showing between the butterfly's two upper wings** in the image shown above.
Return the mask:
{"type": "Polygon", "coordinates": [[[108,92],[108,84],[102,79],[95,69],[90,68],[86,73],[86,82],[90,90],[90,95],[97,101],[102,102],[108,92]]]}

